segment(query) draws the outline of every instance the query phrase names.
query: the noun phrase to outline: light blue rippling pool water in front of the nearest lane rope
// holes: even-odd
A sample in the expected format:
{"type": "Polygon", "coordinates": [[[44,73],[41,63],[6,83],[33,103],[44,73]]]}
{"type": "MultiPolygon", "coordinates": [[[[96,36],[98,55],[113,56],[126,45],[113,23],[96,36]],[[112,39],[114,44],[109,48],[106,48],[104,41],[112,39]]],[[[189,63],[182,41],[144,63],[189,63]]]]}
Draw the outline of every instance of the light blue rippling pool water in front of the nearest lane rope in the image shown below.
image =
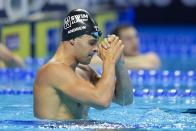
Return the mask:
{"type": "Polygon", "coordinates": [[[0,95],[0,130],[82,130],[100,128],[196,130],[195,97],[134,97],[132,105],[91,108],[86,121],[42,121],[33,116],[33,95],[0,95]],[[194,111],[195,112],[195,111],[194,111]],[[95,121],[92,121],[95,120],[95,121]],[[70,124],[71,123],[71,124],[70,124]]]}

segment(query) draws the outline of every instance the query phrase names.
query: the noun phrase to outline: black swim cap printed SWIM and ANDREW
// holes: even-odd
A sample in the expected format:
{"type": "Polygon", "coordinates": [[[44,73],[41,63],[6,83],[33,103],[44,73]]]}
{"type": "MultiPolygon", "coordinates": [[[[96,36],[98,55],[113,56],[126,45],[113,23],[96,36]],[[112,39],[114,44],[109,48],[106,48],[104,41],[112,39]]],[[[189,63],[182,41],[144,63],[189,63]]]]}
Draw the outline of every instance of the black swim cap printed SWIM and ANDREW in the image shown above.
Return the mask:
{"type": "Polygon", "coordinates": [[[95,20],[86,10],[72,10],[64,19],[62,41],[71,40],[84,34],[99,38],[101,31],[95,20]]]}

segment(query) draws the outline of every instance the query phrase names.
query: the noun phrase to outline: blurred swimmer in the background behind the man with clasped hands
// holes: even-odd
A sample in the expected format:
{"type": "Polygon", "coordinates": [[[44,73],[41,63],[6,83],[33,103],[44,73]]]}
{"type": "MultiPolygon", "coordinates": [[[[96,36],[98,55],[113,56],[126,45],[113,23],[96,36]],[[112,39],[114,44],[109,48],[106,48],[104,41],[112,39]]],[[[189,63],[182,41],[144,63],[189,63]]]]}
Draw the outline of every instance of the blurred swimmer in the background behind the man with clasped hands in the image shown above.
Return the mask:
{"type": "MultiPolygon", "coordinates": [[[[114,29],[113,34],[117,35],[125,46],[123,54],[128,69],[159,69],[160,58],[156,53],[140,54],[139,38],[135,27],[122,25],[114,29]]],[[[98,57],[94,57],[91,63],[94,65],[102,63],[102,61],[98,57]]]]}

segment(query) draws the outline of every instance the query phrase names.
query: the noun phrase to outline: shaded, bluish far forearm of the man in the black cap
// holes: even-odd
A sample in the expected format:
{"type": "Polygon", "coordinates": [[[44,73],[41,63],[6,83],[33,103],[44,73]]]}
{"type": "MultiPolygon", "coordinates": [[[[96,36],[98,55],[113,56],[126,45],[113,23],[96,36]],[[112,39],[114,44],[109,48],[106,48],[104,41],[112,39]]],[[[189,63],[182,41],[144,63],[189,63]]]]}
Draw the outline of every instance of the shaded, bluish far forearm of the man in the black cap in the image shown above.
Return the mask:
{"type": "Polygon", "coordinates": [[[131,85],[128,70],[125,66],[123,56],[117,61],[115,65],[116,70],[116,88],[114,102],[122,106],[131,104],[133,102],[133,88],[131,85]]]}

